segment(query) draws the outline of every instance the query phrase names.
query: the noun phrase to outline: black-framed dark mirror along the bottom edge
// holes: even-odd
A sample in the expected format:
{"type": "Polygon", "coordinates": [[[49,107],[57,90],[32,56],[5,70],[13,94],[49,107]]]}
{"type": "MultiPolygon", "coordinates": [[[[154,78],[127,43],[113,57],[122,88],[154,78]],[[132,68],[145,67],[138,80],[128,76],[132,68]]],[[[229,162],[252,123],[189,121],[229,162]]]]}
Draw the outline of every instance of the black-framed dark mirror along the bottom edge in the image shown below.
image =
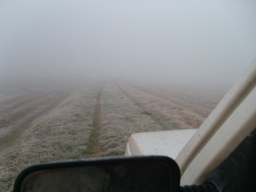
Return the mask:
{"type": "Polygon", "coordinates": [[[177,163],[162,156],[121,157],[33,165],[17,191],[179,191],[177,163]]]}

